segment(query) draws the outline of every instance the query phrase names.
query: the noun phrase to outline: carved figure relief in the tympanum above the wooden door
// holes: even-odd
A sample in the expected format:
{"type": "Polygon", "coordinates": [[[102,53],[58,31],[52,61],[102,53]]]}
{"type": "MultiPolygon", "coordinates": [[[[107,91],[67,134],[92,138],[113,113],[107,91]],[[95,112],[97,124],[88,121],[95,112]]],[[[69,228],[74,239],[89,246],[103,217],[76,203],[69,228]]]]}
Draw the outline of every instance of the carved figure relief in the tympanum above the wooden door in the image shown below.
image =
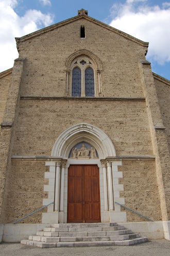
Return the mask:
{"type": "Polygon", "coordinates": [[[82,147],[80,149],[73,148],[71,153],[71,158],[98,158],[96,156],[96,150],[94,147],[91,147],[91,149],[88,149],[82,144],[82,147]]]}

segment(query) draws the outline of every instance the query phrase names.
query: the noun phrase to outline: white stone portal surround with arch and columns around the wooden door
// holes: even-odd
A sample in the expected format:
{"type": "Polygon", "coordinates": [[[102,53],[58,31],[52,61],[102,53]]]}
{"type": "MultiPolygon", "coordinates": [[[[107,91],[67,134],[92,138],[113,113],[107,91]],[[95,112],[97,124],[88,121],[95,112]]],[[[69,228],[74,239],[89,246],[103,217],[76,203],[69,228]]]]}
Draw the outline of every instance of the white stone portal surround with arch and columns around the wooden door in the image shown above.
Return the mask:
{"type": "Polygon", "coordinates": [[[94,125],[80,123],[63,131],[54,143],[51,154],[53,161],[46,162],[49,172],[45,173],[45,178],[49,179],[49,185],[45,186],[48,199],[43,200],[43,205],[54,200],[54,206],[48,206],[47,213],[43,213],[42,222],[66,222],[68,168],[70,165],[89,164],[97,165],[99,168],[101,222],[126,221],[126,213],[121,212],[120,205],[114,206],[115,199],[116,202],[124,203],[124,198],[120,198],[119,195],[123,185],[118,184],[122,172],[118,172],[117,168],[118,165],[122,165],[122,161],[117,161],[115,156],[111,139],[94,125]],[[82,141],[96,149],[97,159],[69,158],[71,149],[82,141]]]}

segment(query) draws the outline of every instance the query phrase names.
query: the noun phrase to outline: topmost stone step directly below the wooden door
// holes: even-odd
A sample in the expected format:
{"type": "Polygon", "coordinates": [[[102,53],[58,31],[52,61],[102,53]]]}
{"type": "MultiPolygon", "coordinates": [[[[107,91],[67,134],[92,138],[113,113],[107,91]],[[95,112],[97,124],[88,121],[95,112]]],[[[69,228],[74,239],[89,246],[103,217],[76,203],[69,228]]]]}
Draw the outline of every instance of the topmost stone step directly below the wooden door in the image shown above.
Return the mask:
{"type": "Polygon", "coordinates": [[[113,227],[117,226],[116,222],[106,223],[53,223],[50,224],[52,228],[94,228],[94,227],[113,227]]]}

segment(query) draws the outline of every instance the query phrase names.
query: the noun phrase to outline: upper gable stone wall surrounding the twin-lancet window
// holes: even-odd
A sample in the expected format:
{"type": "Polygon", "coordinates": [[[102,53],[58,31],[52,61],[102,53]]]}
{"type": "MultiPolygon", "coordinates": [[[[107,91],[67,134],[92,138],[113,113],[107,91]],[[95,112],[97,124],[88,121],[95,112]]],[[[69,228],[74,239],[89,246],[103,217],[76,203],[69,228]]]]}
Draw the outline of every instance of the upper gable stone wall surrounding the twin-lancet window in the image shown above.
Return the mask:
{"type": "Polygon", "coordinates": [[[18,45],[19,56],[26,58],[22,95],[67,95],[65,61],[78,50],[87,49],[103,63],[101,82],[106,97],[142,97],[138,67],[146,47],[114,32],[81,19],[58,27],[18,45]],[[86,38],[80,38],[80,26],[86,38]]]}

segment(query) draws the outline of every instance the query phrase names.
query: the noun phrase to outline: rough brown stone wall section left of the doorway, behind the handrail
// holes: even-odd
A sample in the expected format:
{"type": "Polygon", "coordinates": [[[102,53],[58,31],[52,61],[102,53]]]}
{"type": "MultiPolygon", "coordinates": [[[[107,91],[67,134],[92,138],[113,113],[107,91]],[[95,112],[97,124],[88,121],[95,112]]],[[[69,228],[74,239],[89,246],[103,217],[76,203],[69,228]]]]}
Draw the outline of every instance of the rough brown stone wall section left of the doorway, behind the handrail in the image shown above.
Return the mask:
{"type": "MultiPolygon", "coordinates": [[[[42,206],[44,192],[44,172],[48,171],[44,161],[12,161],[8,175],[8,196],[6,201],[6,223],[37,210],[42,206]]],[[[21,223],[41,223],[42,212],[26,218],[21,223]]]]}

